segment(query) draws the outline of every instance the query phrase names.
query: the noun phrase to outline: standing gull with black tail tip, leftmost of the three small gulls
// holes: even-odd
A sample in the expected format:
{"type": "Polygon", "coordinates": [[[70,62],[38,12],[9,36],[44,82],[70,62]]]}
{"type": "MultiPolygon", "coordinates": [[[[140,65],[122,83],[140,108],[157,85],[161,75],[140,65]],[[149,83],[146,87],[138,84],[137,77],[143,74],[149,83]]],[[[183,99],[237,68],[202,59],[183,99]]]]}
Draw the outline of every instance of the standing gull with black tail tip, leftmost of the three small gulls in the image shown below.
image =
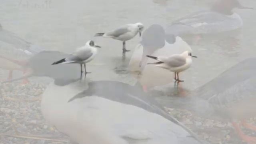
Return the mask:
{"type": "Polygon", "coordinates": [[[98,52],[97,48],[100,48],[100,46],[95,45],[93,40],[89,40],[88,42],[86,42],[85,46],[77,48],[73,54],[70,54],[70,56],[63,58],[57,62],[54,62],[53,64],[70,64],[70,63],[80,64],[81,74],[83,72],[82,64],[84,64],[85,74],[90,73],[90,72],[86,72],[85,63],[90,62],[94,58],[94,56],[98,52]]]}

